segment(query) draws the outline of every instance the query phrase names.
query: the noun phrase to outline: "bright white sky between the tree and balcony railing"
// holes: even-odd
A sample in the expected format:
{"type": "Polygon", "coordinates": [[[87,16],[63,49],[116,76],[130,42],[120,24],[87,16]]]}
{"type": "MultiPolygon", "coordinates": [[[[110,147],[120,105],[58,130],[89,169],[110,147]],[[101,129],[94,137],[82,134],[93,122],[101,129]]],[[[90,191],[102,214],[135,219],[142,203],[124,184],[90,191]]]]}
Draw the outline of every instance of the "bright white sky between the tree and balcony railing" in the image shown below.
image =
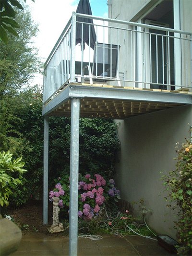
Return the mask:
{"type": "Polygon", "coordinates": [[[77,5],[74,5],[74,0],[36,0],[35,3],[27,3],[34,21],[39,24],[39,33],[34,42],[39,56],[45,61],[77,5]]]}

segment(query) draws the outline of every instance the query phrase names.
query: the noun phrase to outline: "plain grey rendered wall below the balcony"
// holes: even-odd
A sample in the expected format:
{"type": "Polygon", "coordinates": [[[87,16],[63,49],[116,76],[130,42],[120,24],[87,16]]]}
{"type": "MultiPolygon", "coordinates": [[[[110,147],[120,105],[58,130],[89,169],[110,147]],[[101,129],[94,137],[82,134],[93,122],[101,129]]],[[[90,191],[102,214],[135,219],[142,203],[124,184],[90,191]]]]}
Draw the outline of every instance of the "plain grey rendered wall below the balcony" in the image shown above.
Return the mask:
{"type": "Polygon", "coordinates": [[[116,166],[121,198],[129,202],[144,198],[152,210],[148,224],[158,233],[175,237],[173,211],[166,207],[160,171],[175,169],[175,143],[190,137],[192,107],[183,106],[116,121],[121,142],[116,166]]]}

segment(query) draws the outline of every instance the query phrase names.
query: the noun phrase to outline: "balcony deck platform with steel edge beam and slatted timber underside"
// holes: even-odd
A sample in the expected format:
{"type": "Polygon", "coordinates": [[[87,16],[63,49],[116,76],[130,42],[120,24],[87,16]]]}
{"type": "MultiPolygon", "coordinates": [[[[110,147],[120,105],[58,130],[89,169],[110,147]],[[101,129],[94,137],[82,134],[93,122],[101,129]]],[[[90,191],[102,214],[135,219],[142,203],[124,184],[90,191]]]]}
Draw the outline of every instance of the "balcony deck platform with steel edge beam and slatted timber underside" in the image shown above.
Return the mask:
{"type": "Polygon", "coordinates": [[[175,91],[70,83],[43,107],[45,116],[71,116],[71,99],[80,98],[80,117],[125,119],[192,104],[187,89],[175,91]]]}

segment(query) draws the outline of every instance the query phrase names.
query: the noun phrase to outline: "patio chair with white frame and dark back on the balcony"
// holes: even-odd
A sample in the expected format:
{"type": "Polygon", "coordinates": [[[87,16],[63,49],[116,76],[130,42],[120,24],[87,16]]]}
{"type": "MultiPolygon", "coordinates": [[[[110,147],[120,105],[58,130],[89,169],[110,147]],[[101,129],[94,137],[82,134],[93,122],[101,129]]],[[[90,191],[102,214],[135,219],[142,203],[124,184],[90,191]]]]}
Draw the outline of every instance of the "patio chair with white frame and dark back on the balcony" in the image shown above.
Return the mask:
{"type": "Polygon", "coordinates": [[[106,83],[108,81],[119,81],[118,62],[120,45],[95,43],[94,59],[92,68],[89,65],[84,66],[82,74],[82,83],[89,80],[93,83],[106,83]],[[88,76],[85,76],[88,69],[88,76]]]}

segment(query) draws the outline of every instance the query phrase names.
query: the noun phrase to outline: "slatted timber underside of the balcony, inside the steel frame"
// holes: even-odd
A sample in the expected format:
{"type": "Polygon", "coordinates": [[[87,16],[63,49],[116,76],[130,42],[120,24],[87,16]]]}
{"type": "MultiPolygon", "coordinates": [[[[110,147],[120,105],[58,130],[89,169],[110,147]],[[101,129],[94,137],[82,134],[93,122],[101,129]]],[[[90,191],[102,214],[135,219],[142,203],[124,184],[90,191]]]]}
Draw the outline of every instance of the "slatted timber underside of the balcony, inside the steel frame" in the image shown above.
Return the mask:
{"type": "MultiPolygon", "coordinates": [[[[165,110],[177,106],[180,106],[180,104],[82,98],[80,104],[80,117],[125,119],[131,116],[165,110]]],[[[54,110],[51,115],[70,117],[71,101],[68,100],[62,104],[59,108],[54,110]]]]}

